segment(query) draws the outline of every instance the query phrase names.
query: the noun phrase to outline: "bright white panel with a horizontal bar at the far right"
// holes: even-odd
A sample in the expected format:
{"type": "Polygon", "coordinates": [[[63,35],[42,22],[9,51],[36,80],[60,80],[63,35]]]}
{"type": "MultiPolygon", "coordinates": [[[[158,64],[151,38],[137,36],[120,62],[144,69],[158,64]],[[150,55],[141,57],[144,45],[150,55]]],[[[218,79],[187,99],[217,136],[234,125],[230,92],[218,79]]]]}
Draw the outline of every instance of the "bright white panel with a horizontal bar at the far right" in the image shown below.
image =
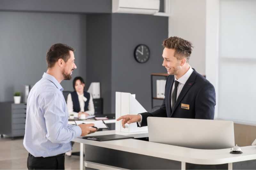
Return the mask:
{"type": "Polygon", "coordinates": [[[256,1],[220,0],[219,118],[256,124],[256,1]]]}

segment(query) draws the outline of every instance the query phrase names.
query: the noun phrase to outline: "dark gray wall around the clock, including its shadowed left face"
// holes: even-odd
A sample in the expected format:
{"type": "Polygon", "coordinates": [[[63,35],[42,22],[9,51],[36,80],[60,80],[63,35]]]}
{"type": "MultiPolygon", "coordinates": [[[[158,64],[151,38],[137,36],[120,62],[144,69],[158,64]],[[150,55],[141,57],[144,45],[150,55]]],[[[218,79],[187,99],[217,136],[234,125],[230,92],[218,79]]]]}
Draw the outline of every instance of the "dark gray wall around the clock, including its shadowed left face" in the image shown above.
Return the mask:
{"type": "MultiPolygon", "coordinates": [[[[115,92],[131,92],[151,111],[150,74],[166,72],[162,42],[168,18],[140,14],[87,15],[87,84],[100,81],[104,113],[115,113],[115,92]],[[147,63],[133,56],[138,44],[150,49],[147,63]]],[[[159,103],[158,103],[159,105],[159,103]]]]}

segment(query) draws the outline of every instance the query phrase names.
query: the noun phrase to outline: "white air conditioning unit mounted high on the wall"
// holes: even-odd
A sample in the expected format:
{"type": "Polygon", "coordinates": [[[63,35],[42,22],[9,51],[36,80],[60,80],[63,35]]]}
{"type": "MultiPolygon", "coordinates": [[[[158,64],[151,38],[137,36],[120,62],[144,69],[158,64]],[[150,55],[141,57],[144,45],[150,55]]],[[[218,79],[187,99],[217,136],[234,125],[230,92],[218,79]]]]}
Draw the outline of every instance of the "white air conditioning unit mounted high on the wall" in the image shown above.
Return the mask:
{"type": "Polygon", "coordinates": [[[112,0],[112,12],[151,14],[159,11],[160,0],[112,0]]]}

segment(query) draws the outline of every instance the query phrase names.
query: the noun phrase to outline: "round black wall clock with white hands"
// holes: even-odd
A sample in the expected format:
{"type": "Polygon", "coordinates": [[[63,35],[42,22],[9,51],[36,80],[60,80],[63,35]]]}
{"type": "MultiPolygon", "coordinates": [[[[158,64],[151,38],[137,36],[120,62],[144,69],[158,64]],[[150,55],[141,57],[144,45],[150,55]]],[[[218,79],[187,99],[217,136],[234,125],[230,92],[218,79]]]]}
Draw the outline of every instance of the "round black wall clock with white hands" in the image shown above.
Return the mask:
{"type": "Polygon", "coordinates": [[[144,44],[138,45],[134,50],[135,60],[139,63],[146,63],[149,59],[149,48],[144,44]]]}

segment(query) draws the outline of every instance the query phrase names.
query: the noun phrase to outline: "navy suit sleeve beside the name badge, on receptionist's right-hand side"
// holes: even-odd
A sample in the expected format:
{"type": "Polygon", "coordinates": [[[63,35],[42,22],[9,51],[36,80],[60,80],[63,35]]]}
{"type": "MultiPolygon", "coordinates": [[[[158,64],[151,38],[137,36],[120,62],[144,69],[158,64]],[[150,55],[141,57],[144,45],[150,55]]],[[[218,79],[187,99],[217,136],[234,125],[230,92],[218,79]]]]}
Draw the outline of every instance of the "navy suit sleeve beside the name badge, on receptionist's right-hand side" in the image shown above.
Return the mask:
{"type": "Polygon", "coordinates": [[[213,120],[215,104],[215,89],[211,83],[208,83],[200,89],[196,96],[195,118],[213,120]]]}

